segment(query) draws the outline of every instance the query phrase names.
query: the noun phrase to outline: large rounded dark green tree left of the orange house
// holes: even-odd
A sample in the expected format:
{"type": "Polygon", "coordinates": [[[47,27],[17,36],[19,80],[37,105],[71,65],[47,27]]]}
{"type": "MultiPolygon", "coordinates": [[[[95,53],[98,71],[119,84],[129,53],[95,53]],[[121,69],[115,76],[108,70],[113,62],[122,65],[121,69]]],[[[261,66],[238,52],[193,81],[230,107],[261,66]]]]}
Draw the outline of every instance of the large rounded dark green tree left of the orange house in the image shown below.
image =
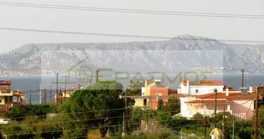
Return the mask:
{"type": "MultiPolygon", "coordinates": [[[[72,113],[65,120],[72,119],[80,122],[64,124],[65,128],[72,129],[72,126],[78,125],[78,128],[83,129],[81,134],[86,135],[88,129],[99,128],[101,137],[106,136],[110,126],[115,127],[115,124],[122,123],[125,107],[124,98],[119,98],[122,89],[122,85],[115,81],[101,81],[87,89],[77,90],[60,108],[60,112],[72,113]]],[[[111,128],[111,130],[115,129],[111,128]]]]}

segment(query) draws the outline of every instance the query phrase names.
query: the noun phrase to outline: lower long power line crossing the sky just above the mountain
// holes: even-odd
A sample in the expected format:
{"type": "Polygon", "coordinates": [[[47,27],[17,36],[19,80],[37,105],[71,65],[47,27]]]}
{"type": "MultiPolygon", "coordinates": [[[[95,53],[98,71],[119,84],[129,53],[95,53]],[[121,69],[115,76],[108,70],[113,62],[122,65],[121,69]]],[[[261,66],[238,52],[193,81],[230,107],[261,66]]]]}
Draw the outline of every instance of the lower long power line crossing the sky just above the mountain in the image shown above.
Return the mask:
{"type": "Polygon", "coordinates": [[[27,28],[8,28],[0,27],[1,30],[6,31],[26,31],[26,32],[40,32],[40,33],[61,33],[61,34],[74,34],[74,35],[101,35],[101,36],[110,36],[110,37],[124,37],[124,38],[150,38],[150,39],[170,39],[170,40],[203,40],[209,42],[244,42],[244,43],[257,43],[264,44],[262,40],[215,40],[208,38],[171,38],[171,37],[162,37],[162,36],[149,36],[149,35],[125,35],[125,34],[115,34],[115,33],[89,33],[89,32],[76,32],[76,31],[51,31],[51,30],[42,30],[42,29],[27,29],[27,28]]]}

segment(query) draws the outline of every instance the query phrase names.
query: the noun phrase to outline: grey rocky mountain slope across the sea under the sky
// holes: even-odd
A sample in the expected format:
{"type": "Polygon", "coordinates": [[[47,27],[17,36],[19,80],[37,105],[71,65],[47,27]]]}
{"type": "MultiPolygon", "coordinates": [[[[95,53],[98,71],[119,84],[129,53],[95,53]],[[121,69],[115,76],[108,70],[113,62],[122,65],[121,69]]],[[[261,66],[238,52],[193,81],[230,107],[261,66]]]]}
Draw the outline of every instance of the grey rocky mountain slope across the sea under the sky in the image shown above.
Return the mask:
{"type": "Polygon", "coordinates": [[[134,72],[175,70],[264,71],[263,44],[226,44],[182,35],[172,40],[126,43],[26,44],[0,55],[0,72],[53,74],[83,60],[91,68],[110,67],[134,72]],[[181,38],[179,40],[179,38],[181,38]],[[187,40],[183,40],[186,38],[187,40]]]}

